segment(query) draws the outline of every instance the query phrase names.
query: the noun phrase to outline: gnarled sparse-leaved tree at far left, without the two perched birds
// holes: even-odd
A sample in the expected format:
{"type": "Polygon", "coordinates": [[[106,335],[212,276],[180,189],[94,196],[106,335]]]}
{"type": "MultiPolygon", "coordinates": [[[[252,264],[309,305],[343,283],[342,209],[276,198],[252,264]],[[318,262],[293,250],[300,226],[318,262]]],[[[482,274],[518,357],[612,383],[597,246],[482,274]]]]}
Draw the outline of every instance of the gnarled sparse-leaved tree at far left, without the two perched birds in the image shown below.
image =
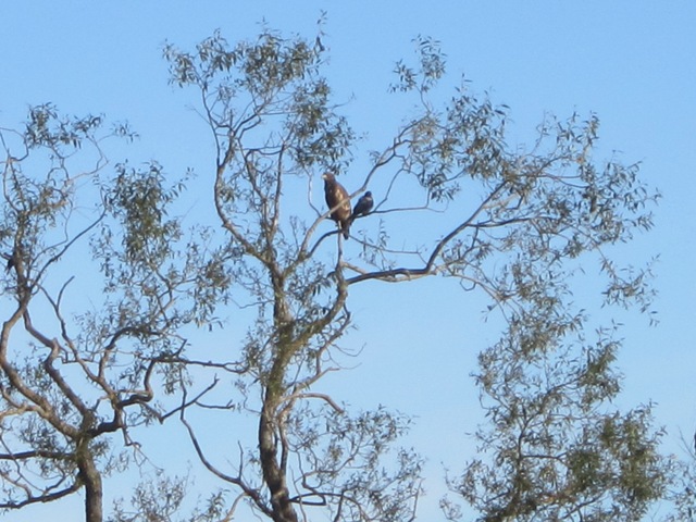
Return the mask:
{"type": "Polygon", "coordinates": [[[191,248],[167,216],[181,186],[161,165],[107,169],[109,139],[134,136],[51,104],[0,129],[2,509],[80,494],[101,522],[103,477],[138,457],[133,430],[161,418],[150,403],[178,378],[182,327],[224,287],[204,233],[191,248]]]}

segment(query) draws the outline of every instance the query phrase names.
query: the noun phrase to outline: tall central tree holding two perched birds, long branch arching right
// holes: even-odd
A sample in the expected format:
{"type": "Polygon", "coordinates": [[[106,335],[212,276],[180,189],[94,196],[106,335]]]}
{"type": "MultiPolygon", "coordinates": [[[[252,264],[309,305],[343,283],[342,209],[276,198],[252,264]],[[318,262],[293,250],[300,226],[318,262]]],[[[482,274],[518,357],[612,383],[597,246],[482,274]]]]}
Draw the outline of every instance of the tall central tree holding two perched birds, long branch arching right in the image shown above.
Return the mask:
{"type": "Polygon", "coordinates": [[[549,116],[530,146],[509,145],[508,108],[465,83],[443,101],[445,55],[432,39],[415,44],[415,64],[399,61],[389,87],[413,100],[409,116],[371,152],[334,99],[321,34],[263,29],[231,45],[216,33],[191,51],[164,49],[171,83],[196,92],[214,146],[214,169],[202,177],[234,257],[225,264],[231,296],[256,313],[244,341],[208,364],[234,372],[223,402],[210,394],[224,383],[183,384],[179,419],[201,462],[236,492],[216,512],[231,520],[244,502],[276,522],[415,518],[422,461],[397,446],[408,421],[382,408],[351,413],[321,383],[340,366],[356,285],[440,275],[462,298],[484,293],[508,325],[482,352],[477,377],[494,405],[495,430],[482,430],[482,445],[501,468],[486,482],[474,461],[452,488],[485,520],[600,520],[593,513],[607,502],[631,519],[662,494],[662,482],[646,481],[667,462],[648,410],[594,409],[617,393],[613,345],[569,340],[586,324],[570,291],[581,265],[596,262],[606,303],[648,309],[649,270],[624,270],[608,247],[650,228],[657,195],[638,165],[594,158],[595,115],[549,116]],[[325,172],[355,200],[373,195],[373,211],[348,239],[327,221],[318,187],[325,172]],[[439,229],[403,225],[428,211],[442,217],[439,229]],[[556,353],[573,364],[549,366],[556,353]],[[519,389],[526,395],[517,398],[519,389]],[[229,446],[207,446],[192,417],[200,409],[251,414],[254,440],[229,421],[229,446]],[[537,446],[546,460],[533,464],[537,446]],[[596,461],[600,453],[606,461],[596,461]]]}

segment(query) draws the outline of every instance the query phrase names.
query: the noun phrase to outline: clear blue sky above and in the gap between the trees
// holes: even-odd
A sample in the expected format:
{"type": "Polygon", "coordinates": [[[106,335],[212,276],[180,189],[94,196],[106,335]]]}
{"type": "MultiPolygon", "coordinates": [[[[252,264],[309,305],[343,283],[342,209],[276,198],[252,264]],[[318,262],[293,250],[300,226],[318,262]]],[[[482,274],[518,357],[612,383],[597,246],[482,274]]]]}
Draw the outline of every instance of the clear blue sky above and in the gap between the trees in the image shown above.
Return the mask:
{"type": "MultiPolygon", "coordinates": [[[[621,400],[654,400],[657,422],[669,431],[666,444],[680,451],[680,431],[691,439],[696,428],[693,1],[2,2],[0,126],[17,126],[29,104],[47,101],[66,113],[104,113],[140,134],[124,151],[134,163],[157,159],[174,173],[187,166],[203,173],[212,165],[211,145],[186,109],[192,92],[166,83],[163,44],[188,49],[216,28],[229,41],[252,37],[262,20],[311,37],[322,10],[330,82],[369,142],[388,139],[405,116],[385,101],[390,72],[412,55],[411,39],[426,35],[448,55],[446,83],[455,86],[463,74],[474,91],[510,105],[512,139],[531,141],[546,112],[593,111],[601,121],[598,156],[619,151],[626,162],[642,162],[644,179],[663,199],[654,231],[622,256],[660,256],[660,323],[648,327],[636,314],[624,321],[621,400]]],[[[355,370],[332,377],[335,395],[415,415],[409,443],[428,458],[432,478],[423,513],[437,512],[440,462],[459,472],[471,445],[465,432],[475,428],[478,402],[469,378],[475,355],[499,332],[482,321],[480,301],[439,279],[355,294],[359,328],[344,345],[364,350],[355,370]]],[[[75,520],[70,506],[52,506],[52,520],[75,520]]],[[[42,509],[4,520],[38,520],[42,509]]]]}

